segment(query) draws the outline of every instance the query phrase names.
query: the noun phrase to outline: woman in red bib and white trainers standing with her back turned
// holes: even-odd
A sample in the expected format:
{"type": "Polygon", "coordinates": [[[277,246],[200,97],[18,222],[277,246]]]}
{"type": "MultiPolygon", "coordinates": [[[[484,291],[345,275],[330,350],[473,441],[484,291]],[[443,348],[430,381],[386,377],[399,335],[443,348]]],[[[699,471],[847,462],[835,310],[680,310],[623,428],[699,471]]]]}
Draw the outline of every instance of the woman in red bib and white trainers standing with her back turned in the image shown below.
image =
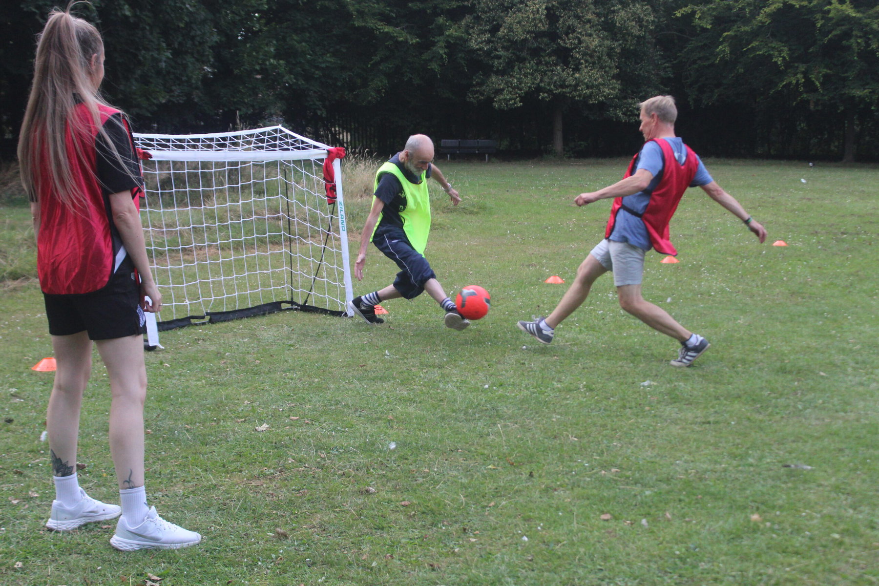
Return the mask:
{"type": "Polygon", "coordinates": [[[127,119],[99,94],[104,42],[72,6],[52,11],[40,33],[18,143],[57,363],[46,417],[55,485],[46,525],[72,531],[120,517],[110,539],[117,549],[191,546],[199,533],[147,504],[143,311],[158,311],[162,295],[149,271],[139,214],[143,180],[127,119]],[[92,341],[113,397],[109,438],[121,507],[88,496],[76,476],[92,341]]]}

